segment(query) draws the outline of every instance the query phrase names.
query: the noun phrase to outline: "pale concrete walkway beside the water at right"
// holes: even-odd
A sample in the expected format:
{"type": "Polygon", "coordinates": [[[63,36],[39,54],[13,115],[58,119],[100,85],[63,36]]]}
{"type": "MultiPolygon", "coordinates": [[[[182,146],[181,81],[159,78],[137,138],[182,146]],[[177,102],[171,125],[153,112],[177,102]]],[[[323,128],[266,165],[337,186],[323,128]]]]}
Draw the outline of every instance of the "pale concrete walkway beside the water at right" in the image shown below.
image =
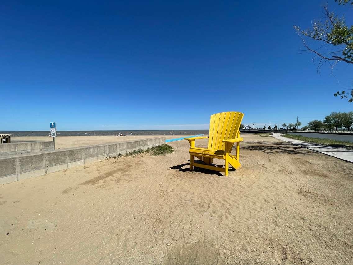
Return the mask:
{"type": "Polygon", "coordinates": [[[309,142],[304,142],[300,140],[294,140],[290,138],[286,138],[281,136],[282,134],[274,133],[273,137],[288,142],[292,143],[293,145],[299,145],[301,147],[305,147],[323,154],[330,155],[331,157],[336,157],[348,162],[353,163],[353,151],[345,148],[336,148],[336,147],[330,147],[330,146],[325,146],[325,145],[319,145],[317,143],[309,143],[309,142]]]}

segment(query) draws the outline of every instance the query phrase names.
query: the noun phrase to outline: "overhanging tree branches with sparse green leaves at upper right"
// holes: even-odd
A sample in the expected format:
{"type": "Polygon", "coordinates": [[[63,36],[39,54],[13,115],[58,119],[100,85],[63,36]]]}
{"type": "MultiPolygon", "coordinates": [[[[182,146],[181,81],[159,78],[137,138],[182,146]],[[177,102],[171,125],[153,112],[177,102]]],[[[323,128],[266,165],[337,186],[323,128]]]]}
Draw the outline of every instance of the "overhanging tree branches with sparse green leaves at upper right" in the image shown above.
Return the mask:
{"type": "MultiPolygon", "coordinates": [[[[353,0],[335,0],[339,5],[353,4],[353,0]]],[[[352,11],[352,8],[348,9],[352,11]]],[[[324,17],[312,23],[312,28],[302,30],[295,25],[304,47],[315,54],[318,60],[317,71],[328,62],[331,69],[339,63],[353,64],[353,25],[348,26],[345,17],[338,17],[329,11],[328,6],[323,8],[324,17]],[[305,38],[305,39],[304,39],[305,38]],[[312,41],[312,42],[311,42],[312,41]],[[316,44],[315,44],[316,43],[316,44]]],[[[353,102],[353,90],[334,93],[334,96],[349,98],[353,102]]]]}

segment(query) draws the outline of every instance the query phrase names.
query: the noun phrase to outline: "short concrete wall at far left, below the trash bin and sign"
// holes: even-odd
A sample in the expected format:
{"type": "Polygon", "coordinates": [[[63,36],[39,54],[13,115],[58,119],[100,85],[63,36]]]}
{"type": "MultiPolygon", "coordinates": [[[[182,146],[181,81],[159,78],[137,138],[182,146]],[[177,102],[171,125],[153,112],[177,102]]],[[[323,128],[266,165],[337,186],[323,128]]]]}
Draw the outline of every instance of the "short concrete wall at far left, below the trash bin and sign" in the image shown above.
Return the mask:
{"type": "Polygon", "coordinates": [[[53,141],[11,141],[0,144],[0,157],[54,150],[53,141]]]}

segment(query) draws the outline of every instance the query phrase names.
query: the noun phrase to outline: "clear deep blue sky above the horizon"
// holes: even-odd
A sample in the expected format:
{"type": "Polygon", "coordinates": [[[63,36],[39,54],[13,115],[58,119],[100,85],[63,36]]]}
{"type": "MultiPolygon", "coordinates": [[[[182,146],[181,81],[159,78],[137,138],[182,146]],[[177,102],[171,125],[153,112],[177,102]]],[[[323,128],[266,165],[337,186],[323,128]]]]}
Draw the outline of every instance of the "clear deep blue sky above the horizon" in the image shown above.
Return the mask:
{"type": "Polygon", "coordinates": [[[309,27],[324,3],[2,3],[0,131],[52,121],[58,130],[208,129],[222,111],[245,113],[245,125],[297,116],[305,125],[352,111],[333,93],[352,84],[353,67],[318,74],[293,29],[309,27]]]}

